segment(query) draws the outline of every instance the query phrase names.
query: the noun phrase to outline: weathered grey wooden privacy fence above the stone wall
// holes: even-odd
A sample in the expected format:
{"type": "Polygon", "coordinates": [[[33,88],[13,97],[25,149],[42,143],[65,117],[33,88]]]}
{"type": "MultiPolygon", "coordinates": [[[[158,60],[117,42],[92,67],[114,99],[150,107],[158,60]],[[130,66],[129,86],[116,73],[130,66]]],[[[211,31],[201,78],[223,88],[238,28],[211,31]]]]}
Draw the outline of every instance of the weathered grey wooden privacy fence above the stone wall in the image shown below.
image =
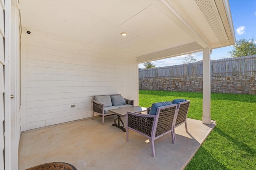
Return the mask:
{"type": "MultiPolygon", "coordinates": [[[[256,55],[213,60],[211,76],[238,76],[256,74],[256,55]]],[[[203,76],[203,63],[139,69],[139,79],[190,78],[203,76]]]]}

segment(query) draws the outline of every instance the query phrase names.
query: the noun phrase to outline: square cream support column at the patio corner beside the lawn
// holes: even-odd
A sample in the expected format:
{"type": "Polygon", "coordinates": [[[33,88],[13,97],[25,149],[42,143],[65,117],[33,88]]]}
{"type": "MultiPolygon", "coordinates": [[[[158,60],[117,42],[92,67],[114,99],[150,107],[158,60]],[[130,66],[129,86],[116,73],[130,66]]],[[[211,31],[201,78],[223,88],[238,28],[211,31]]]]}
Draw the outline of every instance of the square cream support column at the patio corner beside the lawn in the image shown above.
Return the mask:
{"type": "Polygon", "coordinates": [[[210,49],[203,49],[203,117],[204,124],[211,124],[210,49]]]}

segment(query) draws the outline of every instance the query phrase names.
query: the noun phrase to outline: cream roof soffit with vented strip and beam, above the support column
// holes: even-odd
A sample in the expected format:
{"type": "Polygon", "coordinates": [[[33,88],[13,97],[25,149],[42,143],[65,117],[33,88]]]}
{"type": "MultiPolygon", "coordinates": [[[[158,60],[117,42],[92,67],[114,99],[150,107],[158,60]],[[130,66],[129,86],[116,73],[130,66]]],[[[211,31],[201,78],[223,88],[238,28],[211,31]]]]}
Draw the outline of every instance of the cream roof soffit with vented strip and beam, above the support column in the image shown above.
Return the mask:
{"type": "MultiPolygon", "coordinates": [[[[225,24],[222,21],[222,18],[229,21],[224,5],[222,5],[222,13],[219,13],[214,0],[162,0],[162,2],[180,19],[176,22],[180,28],[186,30],[186,33],[202,47],[208,46],[214,49],[230,45],[228,35],[231,36],[232,33],[234,35],[234,32],[230,33],[232,22],[225,24]]],[[[222,0],[218,2],[221,4],[222,0]]]]}

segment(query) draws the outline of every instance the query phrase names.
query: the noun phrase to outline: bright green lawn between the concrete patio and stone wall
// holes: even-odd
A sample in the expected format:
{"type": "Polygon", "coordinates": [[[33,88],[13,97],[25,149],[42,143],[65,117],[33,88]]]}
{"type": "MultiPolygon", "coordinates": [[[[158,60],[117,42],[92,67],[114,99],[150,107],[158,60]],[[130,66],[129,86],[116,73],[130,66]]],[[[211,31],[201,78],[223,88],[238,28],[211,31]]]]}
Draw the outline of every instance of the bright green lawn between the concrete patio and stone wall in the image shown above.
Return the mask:
{"type": "MultiPolygon", "coordinates": [[[[202,93],[139,91],[140,106],[191,100],[188,117],[202,120],[202,93]]],[[[216,127],[186,170],[256,170],[256,95],[211,94],[211,119],[216,127]]]]}

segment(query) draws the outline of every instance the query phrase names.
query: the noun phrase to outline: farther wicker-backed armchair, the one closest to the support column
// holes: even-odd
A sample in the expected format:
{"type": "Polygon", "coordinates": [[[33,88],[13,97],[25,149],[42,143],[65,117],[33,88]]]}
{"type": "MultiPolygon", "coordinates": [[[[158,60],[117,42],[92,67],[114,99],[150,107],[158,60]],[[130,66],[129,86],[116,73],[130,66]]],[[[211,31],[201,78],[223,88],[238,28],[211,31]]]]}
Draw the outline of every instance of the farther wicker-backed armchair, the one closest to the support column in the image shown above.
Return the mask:
{"type": "Polygon", "coordinates": [[[174,128],[173,128],[174,141],[176,141],[175,128],[178,127],[179,125],[185,123],[185,129],[186,129],[186,132],[188,132],[187,115],[188,115],[189,106],[190,106],[190,100],[186,100],[184,102],[178,103],[177,117],[176,117],[174,128]]]}

